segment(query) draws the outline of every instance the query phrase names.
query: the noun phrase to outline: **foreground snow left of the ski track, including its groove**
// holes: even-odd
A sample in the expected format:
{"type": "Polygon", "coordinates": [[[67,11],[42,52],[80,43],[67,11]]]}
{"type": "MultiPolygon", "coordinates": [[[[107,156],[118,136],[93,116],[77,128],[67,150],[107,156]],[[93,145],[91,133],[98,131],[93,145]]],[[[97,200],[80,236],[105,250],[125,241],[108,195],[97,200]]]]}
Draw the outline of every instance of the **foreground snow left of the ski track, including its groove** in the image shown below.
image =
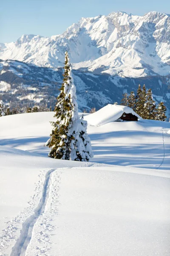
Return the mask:
{"type": "MultiPolygon", "coordinates": [[[[71,161],[69,166],[75,164],[81,165],[71,161]]],[[[28,227],[37,221],[45,206],[42,204],[48,194],[47,189],[43,189],[48,187],[45,177],[51,170],[67,166],[65,160],[56,162],[38,154],[0,146],[0,256],[25,255],[24,241],[27,244],[31,238],[28,227]]]]}

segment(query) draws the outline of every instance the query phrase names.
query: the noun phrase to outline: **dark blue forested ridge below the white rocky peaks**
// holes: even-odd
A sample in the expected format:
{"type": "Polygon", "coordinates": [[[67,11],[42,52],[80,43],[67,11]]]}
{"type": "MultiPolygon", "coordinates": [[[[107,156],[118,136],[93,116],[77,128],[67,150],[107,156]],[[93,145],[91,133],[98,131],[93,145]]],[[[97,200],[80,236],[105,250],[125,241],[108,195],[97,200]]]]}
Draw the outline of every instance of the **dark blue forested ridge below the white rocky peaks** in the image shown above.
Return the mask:
{"type": "MultiPolygon", "coordinates": [[[[62,84],[62,68],[37,67],[22,61],[0,60],[0,99],[10,108],[33,107],[54,109],[62,84]]],[[[156,103],[163,101],[170,109],[170,75],[122,78],[73,70],[80,111],[96,110],[114,102],[121,103],[122,94],[134,91],[138,84],[151,88],[156,103]]]]}

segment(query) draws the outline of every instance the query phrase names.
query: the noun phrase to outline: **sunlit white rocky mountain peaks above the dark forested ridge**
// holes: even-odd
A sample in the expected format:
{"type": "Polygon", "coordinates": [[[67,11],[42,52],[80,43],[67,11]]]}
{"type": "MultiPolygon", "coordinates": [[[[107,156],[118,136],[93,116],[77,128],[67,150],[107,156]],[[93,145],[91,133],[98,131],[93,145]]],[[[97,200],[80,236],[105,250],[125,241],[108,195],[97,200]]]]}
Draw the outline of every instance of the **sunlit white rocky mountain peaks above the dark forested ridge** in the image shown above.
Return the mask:
{"type": "Polygon", "coordinates": [[[168,75],[170,15],[113,12],[82,18],[61,35],[23,35],[15,43],[0,44],[0,58],[62,67],[66,50],[77,70],[122,77],[168,75]]]}

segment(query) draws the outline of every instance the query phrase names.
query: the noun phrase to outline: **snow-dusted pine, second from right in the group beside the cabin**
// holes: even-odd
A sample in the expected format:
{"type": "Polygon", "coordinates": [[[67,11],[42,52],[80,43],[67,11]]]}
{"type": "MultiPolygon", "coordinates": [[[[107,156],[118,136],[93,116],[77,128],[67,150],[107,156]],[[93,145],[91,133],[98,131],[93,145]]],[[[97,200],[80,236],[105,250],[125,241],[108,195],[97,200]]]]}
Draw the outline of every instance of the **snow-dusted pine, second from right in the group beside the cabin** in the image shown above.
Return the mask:
{"type": "Polygon", "coordinates": [[[152,97],[152,90],[149,89],[146,95],[145,109],[145,119],[155,119],[156,118],[156,104],[152,97]]]}

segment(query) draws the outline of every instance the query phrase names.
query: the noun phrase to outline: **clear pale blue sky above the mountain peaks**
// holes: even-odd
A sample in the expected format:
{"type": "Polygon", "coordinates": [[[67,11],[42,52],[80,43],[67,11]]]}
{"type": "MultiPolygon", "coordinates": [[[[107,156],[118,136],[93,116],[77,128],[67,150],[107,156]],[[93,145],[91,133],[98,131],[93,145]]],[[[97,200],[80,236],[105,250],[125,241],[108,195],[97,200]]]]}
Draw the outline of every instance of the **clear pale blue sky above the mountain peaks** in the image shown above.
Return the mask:
{"type": "Polygon", "coordinates": [[[170,14],[170,0],[0,0],[0,42],[16,41],[23,34],[57,35],[81,17],[117,11],[170,14]]]}

